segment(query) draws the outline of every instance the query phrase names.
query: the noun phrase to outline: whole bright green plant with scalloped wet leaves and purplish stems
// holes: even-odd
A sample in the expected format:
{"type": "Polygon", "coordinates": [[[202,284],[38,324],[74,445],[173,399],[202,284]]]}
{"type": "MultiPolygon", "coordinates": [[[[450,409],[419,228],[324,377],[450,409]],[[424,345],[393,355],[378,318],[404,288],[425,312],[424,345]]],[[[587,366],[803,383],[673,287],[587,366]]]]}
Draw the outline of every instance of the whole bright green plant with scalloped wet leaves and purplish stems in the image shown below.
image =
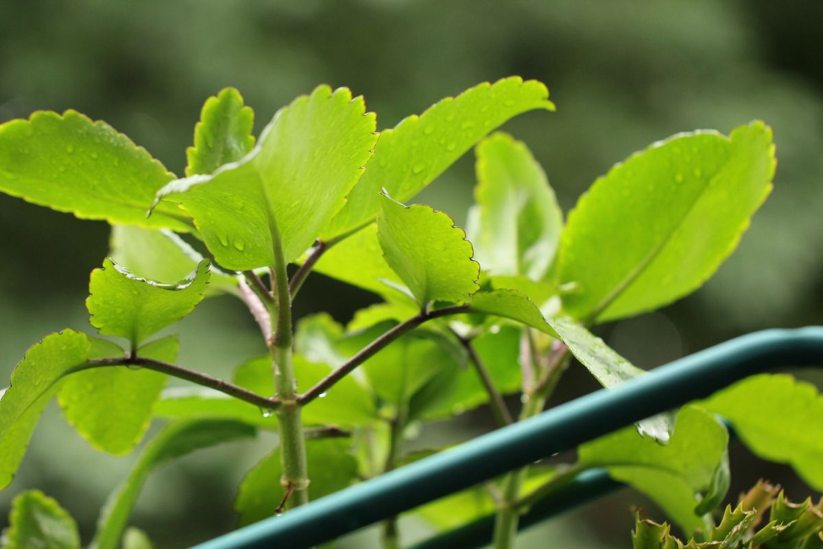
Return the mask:
{"type": "MultiPolygon", "coordinates": [[[[17,365],[0,400],[0,485],[55,396],[80,435],[114,455],[163,422],[90,546],[146,547],[127,529],[140,488],[193,450],[279,433],[239,486],[246,524],[402,466],[420,422],[481,405],[501,426],[534,416],[572,356],[606,388],[643,375],[589,328],[658,309],[711,276],[770,191],[771,130],[753,122],[654,143],[597,179],[564,220],[526,145],[491,133],[534,109],[554,109],[546,87],[510,77],[376,133],[362,97],[319,86],[255,141],[251,109],[227,89],[202,109],[183,179],[74,111],[0,126],[0,190],[112,226],[86,302],[109,338],[66,329],[17,365]],[[407,205],[472,147],[477,204],[466,232],[407,205]],[[312,271],[384,301],[346,326],[326,314],[295,323],[291,305],[312,271]],[[270,351],[240,357],[231,381],[175,364],[177,338],[153,338],[216,295],[248,305],[270,351]],[[192,386],[165,389],[169,376],[192,386]],[[513,393],[518,416],[503,398],[513,393]]],[[[524,509],[597,467],[692,533],[728,488],[728,433],[715,413],[756,454],[823,488],[821,437],[807,435],[823,432],[823,399],[786,376],[760,376],[584,444],[576,463],[512,472],[416,512],[447,528],[495,511],[495,547],[512,547],[524,509]],[[766,402],[751,397],[764,392],[766,402]]],[[[11,522],[2,547],[80,546],[67,512],[38,492],[19,496],[11,522]]],[[[384,547],[400,547],[396,523],[384,524],[384,547]]]]}

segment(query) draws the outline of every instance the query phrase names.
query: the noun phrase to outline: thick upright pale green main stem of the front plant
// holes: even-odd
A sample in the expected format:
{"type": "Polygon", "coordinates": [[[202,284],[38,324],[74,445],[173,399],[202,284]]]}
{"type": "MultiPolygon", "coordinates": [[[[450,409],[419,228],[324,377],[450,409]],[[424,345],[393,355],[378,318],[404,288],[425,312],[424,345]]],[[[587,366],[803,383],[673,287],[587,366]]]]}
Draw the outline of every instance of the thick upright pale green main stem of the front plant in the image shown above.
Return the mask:
{"type": "Polygon", "coordinates": [[[306,463],[305,437],[303,421],[300,419],[300,402],[297,402],[297,380],[291,365],[291,292],[286,273],[286,258],[277,230],[277,223],[269,216],[269,230],[272,233],[272,290],[275,291],[277,303],[269,304],[272,319],[277,316],[269,341],[272,351],[272,370],[274,387],[281,405],[277,407],[277,419],[280,426],[280,448],[283,465],[281,482],[286,491],[292,490],[291,498],[284,502],[287,508],[309,502],[309,471],[306,463]],[[275,309],[275,307],[277,309],[275,309]]]}

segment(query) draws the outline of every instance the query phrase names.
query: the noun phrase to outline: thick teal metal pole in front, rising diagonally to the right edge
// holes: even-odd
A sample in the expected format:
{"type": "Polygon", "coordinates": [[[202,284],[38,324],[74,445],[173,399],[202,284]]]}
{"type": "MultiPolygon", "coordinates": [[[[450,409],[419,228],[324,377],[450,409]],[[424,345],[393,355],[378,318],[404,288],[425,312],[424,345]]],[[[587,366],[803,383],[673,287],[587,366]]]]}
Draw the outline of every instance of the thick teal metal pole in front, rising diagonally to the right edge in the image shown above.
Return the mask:
{"type": "Polygon", "coordinates": [[[823,328],[766,330],[661,366],[649,375],[551,408],[456,449],[198,545],[313,547],[444,495],[628,426],[775,366],[823,364],[823,328]]]}

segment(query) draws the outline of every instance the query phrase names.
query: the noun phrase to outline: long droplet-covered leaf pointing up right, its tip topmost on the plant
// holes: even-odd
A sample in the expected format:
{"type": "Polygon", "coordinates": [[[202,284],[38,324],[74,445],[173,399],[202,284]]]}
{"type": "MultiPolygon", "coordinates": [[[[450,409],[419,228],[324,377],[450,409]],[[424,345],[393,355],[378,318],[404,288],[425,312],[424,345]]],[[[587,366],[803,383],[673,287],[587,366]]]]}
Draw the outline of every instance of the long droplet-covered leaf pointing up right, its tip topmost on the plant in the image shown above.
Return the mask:
{"type": "Polygon", "coordinates": [[[506,120],[532,109],[553,110],[548,97],[546,86],[538,81],[509,77],[494,84],[484,82],[384,130],[374,158],[346,207],[323,232],[323,240],[374,221],[380,188],[405,202],[506,120]]]}

